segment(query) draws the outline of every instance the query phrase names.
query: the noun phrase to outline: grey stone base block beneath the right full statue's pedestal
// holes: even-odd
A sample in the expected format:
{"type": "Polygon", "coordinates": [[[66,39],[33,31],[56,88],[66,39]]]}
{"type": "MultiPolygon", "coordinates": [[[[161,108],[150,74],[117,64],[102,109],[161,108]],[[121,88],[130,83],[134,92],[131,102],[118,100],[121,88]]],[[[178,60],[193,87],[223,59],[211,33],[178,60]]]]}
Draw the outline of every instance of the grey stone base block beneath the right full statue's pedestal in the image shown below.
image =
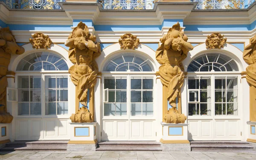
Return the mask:
{"type": "Polygon", "coordinates": [[[191,151],[189,143],[161,143],[163,151],[191,151]]]}

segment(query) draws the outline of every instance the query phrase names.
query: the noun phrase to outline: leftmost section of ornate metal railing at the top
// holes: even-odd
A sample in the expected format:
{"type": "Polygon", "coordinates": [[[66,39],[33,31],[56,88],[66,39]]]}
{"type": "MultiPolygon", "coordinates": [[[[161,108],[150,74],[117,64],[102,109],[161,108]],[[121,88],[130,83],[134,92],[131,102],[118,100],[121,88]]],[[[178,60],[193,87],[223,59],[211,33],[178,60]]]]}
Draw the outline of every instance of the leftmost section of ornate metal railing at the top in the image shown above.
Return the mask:
{"type": "Polygon", "coordinates": [[[59,2],[65,0],[0,0],[13,9],[61,9],[59,2]]]}

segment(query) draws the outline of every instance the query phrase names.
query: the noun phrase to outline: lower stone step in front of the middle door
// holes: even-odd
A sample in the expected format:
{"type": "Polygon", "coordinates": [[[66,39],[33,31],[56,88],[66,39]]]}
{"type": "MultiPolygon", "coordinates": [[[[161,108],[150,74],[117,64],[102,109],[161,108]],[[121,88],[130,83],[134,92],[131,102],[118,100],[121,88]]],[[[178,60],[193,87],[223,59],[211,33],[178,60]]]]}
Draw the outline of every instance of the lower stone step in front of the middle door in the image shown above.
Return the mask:
{"type": "Polygon", "coordinates": [[[162,148],[160,146],[159,147],[100,146],[99,148],[96,149],[96,151],[162,151],[162,148]]]}

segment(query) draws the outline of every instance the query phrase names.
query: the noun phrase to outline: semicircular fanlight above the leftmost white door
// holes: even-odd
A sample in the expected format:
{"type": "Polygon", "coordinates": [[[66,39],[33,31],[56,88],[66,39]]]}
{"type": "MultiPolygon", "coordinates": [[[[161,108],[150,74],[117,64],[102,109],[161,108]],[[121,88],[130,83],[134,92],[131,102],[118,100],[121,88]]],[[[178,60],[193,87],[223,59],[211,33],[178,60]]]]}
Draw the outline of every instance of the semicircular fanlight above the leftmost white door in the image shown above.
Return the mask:
{"type": "Polygon", "coordinates": [[[24,57],[17,71],[68,70],[63,58],[49,52],[36,52],[24,57]]]}

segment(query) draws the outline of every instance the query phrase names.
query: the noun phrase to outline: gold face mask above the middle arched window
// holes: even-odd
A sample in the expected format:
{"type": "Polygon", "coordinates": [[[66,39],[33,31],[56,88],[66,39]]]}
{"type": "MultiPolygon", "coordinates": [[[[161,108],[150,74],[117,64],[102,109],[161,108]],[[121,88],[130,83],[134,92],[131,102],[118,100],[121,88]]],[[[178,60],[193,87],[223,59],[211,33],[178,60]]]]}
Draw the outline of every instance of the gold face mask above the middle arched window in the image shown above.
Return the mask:
{"type": "Polygon", "coordinates": [[[119,44],[121,49],[135,49],[138,48],[140,44],[140,39],[137,39],[137,36],[132,34],[124,34],[119,39],[119,44]]]}

